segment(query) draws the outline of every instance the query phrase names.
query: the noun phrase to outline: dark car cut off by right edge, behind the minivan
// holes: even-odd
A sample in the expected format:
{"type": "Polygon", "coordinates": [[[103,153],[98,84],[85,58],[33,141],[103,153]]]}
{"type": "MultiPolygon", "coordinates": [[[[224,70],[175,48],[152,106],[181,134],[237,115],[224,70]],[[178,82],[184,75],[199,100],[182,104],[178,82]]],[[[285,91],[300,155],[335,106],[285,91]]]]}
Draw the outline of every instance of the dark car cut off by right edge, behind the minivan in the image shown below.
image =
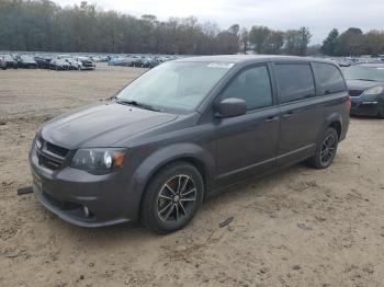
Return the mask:
{"type": "Polygon", "coordinates": [[[360,64],[343,70],[351,114],[384,118],[384,64],[360,64]]]}

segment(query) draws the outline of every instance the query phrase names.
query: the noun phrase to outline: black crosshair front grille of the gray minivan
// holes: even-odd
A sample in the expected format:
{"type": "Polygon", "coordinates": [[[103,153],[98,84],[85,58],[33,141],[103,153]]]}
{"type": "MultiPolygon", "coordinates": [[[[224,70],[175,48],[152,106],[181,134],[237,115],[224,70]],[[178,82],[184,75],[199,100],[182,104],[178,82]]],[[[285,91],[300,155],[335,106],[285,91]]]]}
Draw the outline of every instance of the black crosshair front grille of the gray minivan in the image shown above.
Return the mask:
{"type": "Polygon", "coordinates": [[[36,148],[38,164],[48,170],[59,170],[69,150],[48,142],[43,138],[39,138],[38,141],[42,142],[42,147],[36,148]]]}

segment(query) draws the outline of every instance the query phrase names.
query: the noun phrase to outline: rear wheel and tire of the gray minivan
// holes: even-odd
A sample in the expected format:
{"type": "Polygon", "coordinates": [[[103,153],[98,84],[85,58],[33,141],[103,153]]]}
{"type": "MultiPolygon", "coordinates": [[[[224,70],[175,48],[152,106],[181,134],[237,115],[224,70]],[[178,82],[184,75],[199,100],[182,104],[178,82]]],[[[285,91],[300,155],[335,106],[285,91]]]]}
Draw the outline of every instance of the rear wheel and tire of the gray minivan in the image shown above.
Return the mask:
{"type": "Polygon", "coordinates": [[[317,144],[315,156],[308,159],[309,165],[317,170],[327,169],[334,162],[338,144],[336,129],[328,127],[317,144]]]}

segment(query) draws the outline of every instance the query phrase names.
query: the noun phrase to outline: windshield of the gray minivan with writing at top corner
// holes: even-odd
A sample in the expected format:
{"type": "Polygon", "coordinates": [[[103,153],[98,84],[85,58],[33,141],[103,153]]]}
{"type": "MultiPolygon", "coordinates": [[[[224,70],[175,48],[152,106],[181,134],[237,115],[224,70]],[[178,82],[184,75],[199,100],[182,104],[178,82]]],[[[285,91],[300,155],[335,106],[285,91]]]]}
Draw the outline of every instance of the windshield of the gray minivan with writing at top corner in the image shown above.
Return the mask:
{"type": "Polygon", "coordinates": [[[231,67],[224,62],[165,62],[128,84],[116,100],[163,112],[192,112],[231,67]]]}

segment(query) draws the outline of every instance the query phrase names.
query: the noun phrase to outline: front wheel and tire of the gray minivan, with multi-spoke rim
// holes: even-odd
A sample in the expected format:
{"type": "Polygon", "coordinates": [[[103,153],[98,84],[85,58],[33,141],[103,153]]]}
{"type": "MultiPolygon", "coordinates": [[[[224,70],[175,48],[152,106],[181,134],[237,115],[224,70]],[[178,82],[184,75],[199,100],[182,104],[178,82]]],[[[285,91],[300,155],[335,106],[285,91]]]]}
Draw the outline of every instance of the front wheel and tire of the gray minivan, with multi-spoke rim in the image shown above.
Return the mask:
{"type": "Polygon", "coordinates": [[[140,219],[148,229],[169,233],[185,227],[195,215],[204,193],[200,172],[179,161],[162,168],[149,182],[140,206],[140,219]]]}

